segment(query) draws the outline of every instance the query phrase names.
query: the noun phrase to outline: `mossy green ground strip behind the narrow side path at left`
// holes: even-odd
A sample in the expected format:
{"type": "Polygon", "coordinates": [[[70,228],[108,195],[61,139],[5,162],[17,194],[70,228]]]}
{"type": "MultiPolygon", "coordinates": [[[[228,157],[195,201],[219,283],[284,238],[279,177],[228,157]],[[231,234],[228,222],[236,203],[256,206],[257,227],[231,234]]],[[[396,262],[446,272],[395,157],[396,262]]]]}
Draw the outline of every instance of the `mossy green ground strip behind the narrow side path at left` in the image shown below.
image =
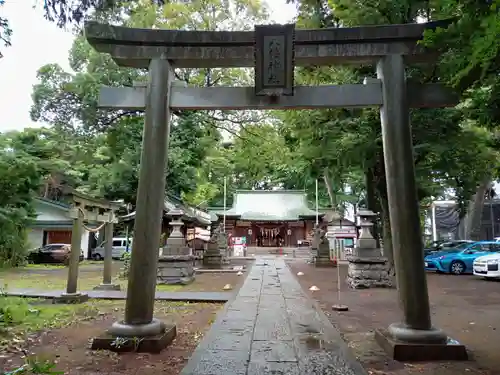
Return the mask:
{"type": "MultiPolygon", "coordinates": [[[[247,267],[250,267],[250,264],[251,262],[245,263],[247,267]]],[[[120,284],[122,290],[126,290],[127,280],[119,277],[120,267],[120,262],[113,263],[113,282],[120,284]]],[[[30,266],[0,271],[0,288],[5,285],[6,290],[9,288],[64,290],[66,288],[67,274],[66,267],[54,266],[30,266]]],[[[157,290],[168,292],[222,292],[226,284],[236,287],[244,279],[244,275],[238,276],[236,273],[200,273],[196,274],[195,281],[189,285],[158,285],[157,290]]],[[[79,290],[92,290],[101,282],[102,262],[93,262],[80,266],[78,275],[79,290]]]]}

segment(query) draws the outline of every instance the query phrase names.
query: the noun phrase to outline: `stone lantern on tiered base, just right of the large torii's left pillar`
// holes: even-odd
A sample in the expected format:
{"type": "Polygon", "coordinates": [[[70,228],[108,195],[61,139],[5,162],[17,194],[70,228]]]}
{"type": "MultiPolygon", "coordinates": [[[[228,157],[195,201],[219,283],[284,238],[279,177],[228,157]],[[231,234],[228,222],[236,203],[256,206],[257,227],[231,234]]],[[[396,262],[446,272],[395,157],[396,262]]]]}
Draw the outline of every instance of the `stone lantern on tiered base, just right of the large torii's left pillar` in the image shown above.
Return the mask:
{"type": "Polygon", "coordinates": [[[195,257],[192,249],[186,245],[186,239],[181,232],[183,225],[181,217],[184,212],[175,209],[169,214],[172,217],[170,223],[172,233],[158,258],[156,283],[186,285],[194,281],[195,257]]]}

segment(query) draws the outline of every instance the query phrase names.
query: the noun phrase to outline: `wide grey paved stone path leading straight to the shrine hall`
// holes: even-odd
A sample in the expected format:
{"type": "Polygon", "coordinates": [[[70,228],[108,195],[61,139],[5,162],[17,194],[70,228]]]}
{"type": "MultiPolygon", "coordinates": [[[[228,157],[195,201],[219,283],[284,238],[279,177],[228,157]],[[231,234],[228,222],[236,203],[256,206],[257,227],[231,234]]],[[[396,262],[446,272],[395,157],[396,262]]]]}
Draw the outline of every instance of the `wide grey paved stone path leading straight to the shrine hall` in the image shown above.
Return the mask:
{"type": "Polygon", "coordinates": [[[257,257],[181,375],[366,375],[284,259],[257,257]]]}

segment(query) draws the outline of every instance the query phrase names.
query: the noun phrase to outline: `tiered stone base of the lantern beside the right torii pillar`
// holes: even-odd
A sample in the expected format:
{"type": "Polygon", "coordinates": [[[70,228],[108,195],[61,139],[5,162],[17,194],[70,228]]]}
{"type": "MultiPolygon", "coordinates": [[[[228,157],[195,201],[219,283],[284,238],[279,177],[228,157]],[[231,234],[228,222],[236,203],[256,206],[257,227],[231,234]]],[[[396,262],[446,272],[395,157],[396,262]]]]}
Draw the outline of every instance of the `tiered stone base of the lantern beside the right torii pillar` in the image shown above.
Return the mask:
{"type": "Polygon", "coordinates": [[[347,284],[353,289],[392,288],[385,258],[349,257],[347,284]]]}

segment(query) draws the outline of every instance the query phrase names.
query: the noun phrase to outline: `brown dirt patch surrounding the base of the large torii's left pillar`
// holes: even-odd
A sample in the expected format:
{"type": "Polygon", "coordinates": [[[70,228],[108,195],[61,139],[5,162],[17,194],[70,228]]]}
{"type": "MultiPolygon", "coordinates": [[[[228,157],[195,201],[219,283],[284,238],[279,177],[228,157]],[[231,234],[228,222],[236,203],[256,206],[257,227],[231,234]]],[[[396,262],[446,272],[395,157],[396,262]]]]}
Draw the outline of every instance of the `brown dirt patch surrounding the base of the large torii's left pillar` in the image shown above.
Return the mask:
{"type": "MultiPolygon", "coordinates": [[[[104,302],[104,301],[102,301],[104,302]]],[[[102,334],[113,321],[123,318],[125,301],[106,301],[97,316],[81,320],[66,328],[38,333],[21,348],[38,360],[55,361],[55,371],[63,374],[97,375],[177,375],[192,351],[208,330],[222,304],[157,302],[155,317],[177,325],[177,338],[160,354],[116,354],[91,351],[92,337],[102,334]]],[[[0,373],[23,365],[25,358],[19,350],[2,353],[0,373]]]]}

